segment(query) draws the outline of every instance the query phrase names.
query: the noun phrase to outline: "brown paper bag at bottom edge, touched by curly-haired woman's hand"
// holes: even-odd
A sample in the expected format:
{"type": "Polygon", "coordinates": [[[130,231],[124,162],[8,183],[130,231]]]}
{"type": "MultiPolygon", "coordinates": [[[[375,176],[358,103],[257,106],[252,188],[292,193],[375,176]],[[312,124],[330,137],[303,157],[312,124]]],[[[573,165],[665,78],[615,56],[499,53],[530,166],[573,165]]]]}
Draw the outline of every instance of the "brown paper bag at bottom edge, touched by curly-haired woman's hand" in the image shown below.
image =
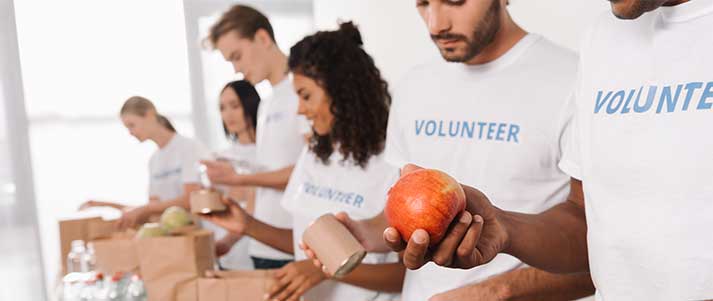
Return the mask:
{"type": "Polygon", "coordinates": [[[273,285],[271,270],[209,271],[198,279],[198,301],[262,301],[273,285]]]}

